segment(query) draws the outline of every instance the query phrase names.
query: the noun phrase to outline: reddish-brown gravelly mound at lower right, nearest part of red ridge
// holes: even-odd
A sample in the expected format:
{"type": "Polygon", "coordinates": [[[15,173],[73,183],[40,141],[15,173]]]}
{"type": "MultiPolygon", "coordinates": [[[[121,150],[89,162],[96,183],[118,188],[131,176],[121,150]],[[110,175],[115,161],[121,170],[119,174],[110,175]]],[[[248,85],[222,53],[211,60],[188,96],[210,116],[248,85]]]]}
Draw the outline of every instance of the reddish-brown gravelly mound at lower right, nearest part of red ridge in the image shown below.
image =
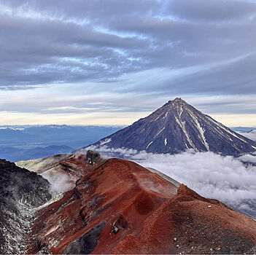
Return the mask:
{"type": "Polygon", "coordinates": [[[144,221],[137,238],[127,236],[112,253],[254,254],[255,244],[253,219],[181,184],[177,195],[144,221]]]}

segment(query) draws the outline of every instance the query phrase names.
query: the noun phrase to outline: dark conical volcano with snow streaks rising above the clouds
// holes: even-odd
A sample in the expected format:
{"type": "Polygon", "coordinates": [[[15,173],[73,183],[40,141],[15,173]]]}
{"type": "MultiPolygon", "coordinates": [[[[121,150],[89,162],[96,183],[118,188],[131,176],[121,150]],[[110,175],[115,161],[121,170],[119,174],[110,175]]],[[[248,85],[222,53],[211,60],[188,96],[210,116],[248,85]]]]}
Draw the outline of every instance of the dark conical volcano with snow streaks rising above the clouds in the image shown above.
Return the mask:
{"type": "Polygon", "coordinates": [[[148,117],[101,139],[96,146],[176,154],[186,149],[238,155],[255,152],[256,143],[175,98],[148,117]]]}

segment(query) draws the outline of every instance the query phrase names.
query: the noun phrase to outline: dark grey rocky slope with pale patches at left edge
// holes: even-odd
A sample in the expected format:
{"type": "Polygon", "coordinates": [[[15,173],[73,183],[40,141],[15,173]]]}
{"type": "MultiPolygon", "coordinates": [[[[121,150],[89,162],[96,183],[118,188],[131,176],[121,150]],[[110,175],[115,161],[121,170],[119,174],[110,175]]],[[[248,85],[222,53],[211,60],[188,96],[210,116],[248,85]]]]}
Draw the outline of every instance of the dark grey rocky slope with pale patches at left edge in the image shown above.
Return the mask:
{"type": "Polygon", "coordinates": [[[0,254],[26,251],[34,210],[50,200],[47,180],[14,163],[0,160],[0,254]]]}

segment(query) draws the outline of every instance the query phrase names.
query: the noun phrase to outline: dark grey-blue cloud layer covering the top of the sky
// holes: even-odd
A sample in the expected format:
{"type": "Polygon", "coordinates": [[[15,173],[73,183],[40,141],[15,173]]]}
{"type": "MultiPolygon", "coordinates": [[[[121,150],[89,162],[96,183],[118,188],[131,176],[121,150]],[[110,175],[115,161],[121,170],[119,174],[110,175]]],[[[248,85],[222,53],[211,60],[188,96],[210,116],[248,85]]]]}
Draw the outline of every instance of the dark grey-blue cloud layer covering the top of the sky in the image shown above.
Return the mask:
{"type": "Polygon", "coordinates": [[[2,86],[104,79],[255,50],[255,4],[244,1],[1,3],[2,86]]]}

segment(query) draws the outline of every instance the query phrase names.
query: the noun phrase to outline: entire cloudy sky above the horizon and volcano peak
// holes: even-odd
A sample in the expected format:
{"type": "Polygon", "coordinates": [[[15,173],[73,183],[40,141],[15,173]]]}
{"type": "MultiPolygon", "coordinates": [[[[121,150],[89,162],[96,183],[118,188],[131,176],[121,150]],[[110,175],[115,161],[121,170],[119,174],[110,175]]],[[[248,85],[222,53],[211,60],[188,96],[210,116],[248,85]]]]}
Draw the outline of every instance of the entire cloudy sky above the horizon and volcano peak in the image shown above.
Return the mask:
{"type": "Polygon", "coordinates": [[[128,125],[182,97],[256,126],[255,0],[0,0],[0,125],[128,125]]]}

